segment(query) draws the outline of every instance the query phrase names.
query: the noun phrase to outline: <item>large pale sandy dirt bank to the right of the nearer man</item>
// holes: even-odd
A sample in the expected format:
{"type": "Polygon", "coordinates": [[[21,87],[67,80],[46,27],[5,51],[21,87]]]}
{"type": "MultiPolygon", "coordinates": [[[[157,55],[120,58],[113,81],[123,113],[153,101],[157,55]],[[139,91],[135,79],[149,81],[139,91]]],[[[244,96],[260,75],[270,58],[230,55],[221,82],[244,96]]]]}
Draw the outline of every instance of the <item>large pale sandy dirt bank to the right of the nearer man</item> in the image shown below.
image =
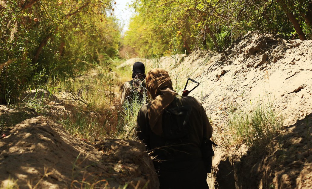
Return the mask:
{"type": "Polygon", "coordinates": [[[214,140],[221,144],[216,148],[214,171],[209,175],[210,188],[310,186],[311,175],[306,173],[312,162],[306,152],[312,150],[307,142],[311,140],[311,123],[299,126],[302,122],[297,120],[309,120],[306,116],[312,113],[311,71],[311,41],[286,41],[249,32],[208,64],[202,75],[193,75],[201,85],[190,95],[202,102],[214,125],[214,140]],[[257,157],[244,145],[226,145],[232,136],[228,129],[229,112],[250,110],[268,101],[273,103],[275,112],[284,116],[286,127],[280,138],[269,144],[268,152],[257,157]],[[285,140],[288,145],[284,145],[285,140]],[[285,160],[279,162],[277,154],[272,155],[275,152],[285,160]],[[296,159],[299,157],[300,160],[296,159]]]}

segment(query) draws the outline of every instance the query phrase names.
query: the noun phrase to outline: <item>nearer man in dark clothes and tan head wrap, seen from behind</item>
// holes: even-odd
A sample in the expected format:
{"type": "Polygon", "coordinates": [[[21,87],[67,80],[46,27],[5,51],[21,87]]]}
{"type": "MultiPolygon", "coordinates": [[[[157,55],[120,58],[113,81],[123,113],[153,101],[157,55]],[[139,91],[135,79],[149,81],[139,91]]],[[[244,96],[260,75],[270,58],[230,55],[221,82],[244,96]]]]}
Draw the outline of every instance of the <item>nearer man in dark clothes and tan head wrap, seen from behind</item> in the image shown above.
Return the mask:
{"type": "Polygon", "coordinates": [[[160,189],[208,189],[201,147],[212,127],[205,110],[194,97],[178,96],[167,71],[152,69],[145,80],[153,100],[139,110],[136,133],[152,152],[160,189]]]}

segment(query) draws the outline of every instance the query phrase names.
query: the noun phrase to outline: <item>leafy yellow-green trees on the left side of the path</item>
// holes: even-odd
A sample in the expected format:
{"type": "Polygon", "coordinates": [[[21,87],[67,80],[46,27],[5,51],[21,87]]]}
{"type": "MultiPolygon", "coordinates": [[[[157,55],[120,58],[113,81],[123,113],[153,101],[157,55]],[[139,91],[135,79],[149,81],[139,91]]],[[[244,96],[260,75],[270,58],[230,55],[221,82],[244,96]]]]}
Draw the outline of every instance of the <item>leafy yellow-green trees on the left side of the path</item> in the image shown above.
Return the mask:
{"type": "Polygon", "coordinates": [[[118,49],[111,0],[2,1],[0,103],[16,101],[28,84],[73,77],[118,49]]]}

